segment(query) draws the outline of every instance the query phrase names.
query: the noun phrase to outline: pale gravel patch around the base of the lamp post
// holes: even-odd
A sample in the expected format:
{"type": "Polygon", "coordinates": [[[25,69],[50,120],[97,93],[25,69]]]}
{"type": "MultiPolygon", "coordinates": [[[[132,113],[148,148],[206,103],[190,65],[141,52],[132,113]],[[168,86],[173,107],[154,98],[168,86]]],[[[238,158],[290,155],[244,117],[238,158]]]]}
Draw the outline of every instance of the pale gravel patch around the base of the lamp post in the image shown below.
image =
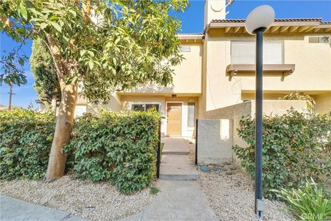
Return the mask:
{"type": "MultiPolygon", "coordinates": [[[[254,219],[254,188],[250,176],[233,168],[232,165],[221,167],[221,172],[199,171],[200,189],[210,202],[210,207],[222,221],[243,221],[254,219]],[[231,171],[232,175],[226,175],[231,171]]],[[[290,211],[284,209],[282,202],[265,200],[263,220],[285,221],[295,220],[290,211]]]]}

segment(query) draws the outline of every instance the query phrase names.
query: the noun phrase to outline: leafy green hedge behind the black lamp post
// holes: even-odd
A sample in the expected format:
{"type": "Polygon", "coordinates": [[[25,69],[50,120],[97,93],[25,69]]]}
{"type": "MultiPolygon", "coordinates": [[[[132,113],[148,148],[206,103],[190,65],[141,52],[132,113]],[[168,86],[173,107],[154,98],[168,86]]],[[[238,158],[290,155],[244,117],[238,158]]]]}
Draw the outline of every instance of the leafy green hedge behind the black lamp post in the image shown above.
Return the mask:
{"type": "MultiPolygon", "coordinates": [[[[255,123],[243,117],[237,129],[248,147],[233,147],[241,166],[254,176],[255,123]]],[[[331,112],[299,113],[290,109],[282,116],[263,118],[263,190],[304,187],[312,177],[321,182],[331,176],[331,112]]]]}

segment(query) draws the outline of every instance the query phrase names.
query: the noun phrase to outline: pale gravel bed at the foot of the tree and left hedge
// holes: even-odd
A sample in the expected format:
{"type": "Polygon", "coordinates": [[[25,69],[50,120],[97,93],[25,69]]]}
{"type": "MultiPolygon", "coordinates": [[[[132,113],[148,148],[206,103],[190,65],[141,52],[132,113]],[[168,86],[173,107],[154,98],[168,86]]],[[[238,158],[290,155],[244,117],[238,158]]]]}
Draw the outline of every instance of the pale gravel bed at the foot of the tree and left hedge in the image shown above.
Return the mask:
{"type": "Polygon", "coordinates": [[[88,220],[117,220],[145,209],[154,196],[150,188],[123,195],[109,182],[93,183],[63,176],[54,182],[0,181],[0,193],[88,220]]]}

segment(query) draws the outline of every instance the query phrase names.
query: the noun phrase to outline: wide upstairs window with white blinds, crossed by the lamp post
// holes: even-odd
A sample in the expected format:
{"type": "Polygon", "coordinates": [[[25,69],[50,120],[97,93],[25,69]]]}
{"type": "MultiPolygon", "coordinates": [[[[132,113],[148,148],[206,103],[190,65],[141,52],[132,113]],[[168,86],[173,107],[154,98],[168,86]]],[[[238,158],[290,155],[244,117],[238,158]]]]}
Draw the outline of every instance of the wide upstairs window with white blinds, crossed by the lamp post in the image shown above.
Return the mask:
{"type": "MultiPolygon", "coordinates": [[[[231,63],[235,65],[249,65],[255,63],[254,41],[231,41],[231,63]]],[[[263,43],[263,63],[283,63],[283,43],[263,43]]]]}

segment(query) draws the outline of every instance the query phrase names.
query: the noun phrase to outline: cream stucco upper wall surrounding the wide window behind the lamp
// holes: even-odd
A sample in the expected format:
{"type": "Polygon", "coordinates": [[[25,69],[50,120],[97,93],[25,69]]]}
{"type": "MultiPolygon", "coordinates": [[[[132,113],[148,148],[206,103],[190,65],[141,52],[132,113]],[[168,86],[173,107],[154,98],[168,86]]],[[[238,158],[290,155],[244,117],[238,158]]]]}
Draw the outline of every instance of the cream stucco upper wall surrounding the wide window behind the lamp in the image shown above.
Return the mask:
{"type": "MultiPolygon", "coordinates": [[[[254,75],[241,74],[230,78],[225,73],[226,66],[231,63],[231,41],[243,40],[254,41],[254,36],[225,35],[219,30],[210,30],[205,37],[203,61],[205,101],[201,103],[205,103],[203,109],[206,112],[241,103],[248,98],[247,93],[254,92],[254,75]]],[[[263,76],[263,90],[269,94],[265,95],[265,98],[276,98],[281,94],[296,91],[305,94],[331,92],[330,44],[308,43],[308,36],[302,34],[265,34],[265,41],[283,41],[284,63],[296,65],[293,74],[285,78],[282,78],[281,74],[263,76]]]]}

